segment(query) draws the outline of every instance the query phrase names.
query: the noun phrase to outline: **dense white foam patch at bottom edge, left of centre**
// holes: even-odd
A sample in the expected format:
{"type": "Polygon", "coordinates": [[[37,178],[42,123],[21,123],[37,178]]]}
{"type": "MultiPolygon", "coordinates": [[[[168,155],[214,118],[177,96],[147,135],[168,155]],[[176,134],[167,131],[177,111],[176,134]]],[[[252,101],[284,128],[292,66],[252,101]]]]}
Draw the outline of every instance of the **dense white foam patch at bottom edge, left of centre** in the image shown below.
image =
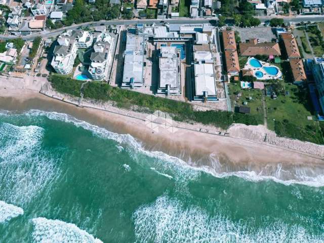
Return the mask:
{"type": "Polygon", "coordinates": [[[34,218],[32,223],[34,225],[32,237],[35,243],[102,243],[100,239],[78,228],[75,224],[46,218],[34,218]]]}

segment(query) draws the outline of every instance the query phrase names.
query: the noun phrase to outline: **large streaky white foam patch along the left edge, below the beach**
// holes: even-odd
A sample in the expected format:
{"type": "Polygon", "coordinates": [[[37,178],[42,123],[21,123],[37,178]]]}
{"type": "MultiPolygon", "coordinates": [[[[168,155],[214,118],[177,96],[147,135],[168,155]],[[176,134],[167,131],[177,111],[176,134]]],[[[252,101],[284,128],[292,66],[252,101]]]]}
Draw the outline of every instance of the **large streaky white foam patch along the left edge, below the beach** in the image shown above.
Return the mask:
{"type": "Polygon", "coordinates": [[[2,199],[26,203],[54,175],[53,158],[41,149],[44,129],[0,123],[0,191],[2,199]]]}

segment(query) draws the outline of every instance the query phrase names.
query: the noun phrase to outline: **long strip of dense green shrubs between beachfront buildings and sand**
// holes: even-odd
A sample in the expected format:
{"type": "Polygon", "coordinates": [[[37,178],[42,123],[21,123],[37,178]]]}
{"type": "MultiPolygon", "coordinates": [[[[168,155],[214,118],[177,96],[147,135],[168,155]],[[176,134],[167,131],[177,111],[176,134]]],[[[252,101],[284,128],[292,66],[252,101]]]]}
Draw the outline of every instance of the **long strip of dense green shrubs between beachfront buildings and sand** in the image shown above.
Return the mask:
{"type": "MultiPolygon", "coordinates": [[[[49,80],[53,88],[58,92],[80,96],[82,82],[61,75],[52,75],[49,80]]],[[[134,106],[137,106],[137,110],[145,110],[147,112],[154,112],[156,110],[168,112],[175,120],[180,121],[196,121],[223,129],[228,128],[234,122],[258,125],[253,115],[216,110],[194,111],[192,106],[185,102],[119,89],[99,82],[85,84],[82,92],[84,98],[114,101],[118,107],[134,108],[134,106]]]]}

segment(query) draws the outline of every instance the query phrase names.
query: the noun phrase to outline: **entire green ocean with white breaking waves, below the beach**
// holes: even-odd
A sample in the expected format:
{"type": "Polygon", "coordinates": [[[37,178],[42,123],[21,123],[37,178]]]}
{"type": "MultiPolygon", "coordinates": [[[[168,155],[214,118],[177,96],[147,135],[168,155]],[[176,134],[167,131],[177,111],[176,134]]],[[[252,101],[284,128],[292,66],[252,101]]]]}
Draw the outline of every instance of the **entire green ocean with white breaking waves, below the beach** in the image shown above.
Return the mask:
{"type": "Polygon", "coordinates": [[[66,114],[1,111],[0,242],[324,242],[324,187],[211,173],[66,114]]]}

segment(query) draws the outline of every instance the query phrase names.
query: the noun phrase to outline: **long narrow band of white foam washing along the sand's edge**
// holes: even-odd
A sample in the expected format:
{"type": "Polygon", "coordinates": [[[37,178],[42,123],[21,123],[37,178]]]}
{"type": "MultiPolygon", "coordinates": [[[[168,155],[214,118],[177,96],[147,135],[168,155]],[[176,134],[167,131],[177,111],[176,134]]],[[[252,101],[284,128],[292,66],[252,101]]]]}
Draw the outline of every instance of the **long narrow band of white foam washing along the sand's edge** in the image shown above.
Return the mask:
{"type": "MultiPolygon", "coordinates": [[[[291,172],[294,173],[292,176],[292,178],[294,179],[283,180],[280,178],[282,174],[282,168],[280,165],[278,165],[277,170],[273,172],[270,176],[264,175],[263,172],[258,174],[254,171],[218,172],[211,167],[193,167],[188,165],[190,163],[185,163],[185,161],[177,157],[170,156],[164,152],[145,150],[142,144],[136,141],[134,137],[132,137],[129,134],[112,133],[104,128],[91,125],[86,121],[78,120],[75,117],[72,117],[68,114],[58,112],[47,112],[41,110],[30,110],[26,113],[26,115],[44,115],[50,119],[60,120],[66,123],[72,123],[77,127],[82,127],[84,129],[92,131],[97,136],[112,139],[121,145],[128,146],[128,148],[131,150],[131,155],[137,161],[137,163],[142,163],[142,156],[149,156],[153,158],[154,168],[157,168],[160,171],[160,173],[163,174],[167,174],[166,172],[172,172],[173,178],[178,182],[179,187],[182,187],[183,184],[186,184],[188,180],[196,179],[199,176],[200,172],[209,173],[217,178],[236,176],[253,182],[273,180],[275,182],[282,183],[285,185],[303,184],[313,187],[324,186],[324,175],[313,175],[312,173],[308,173],[307,170],[298,168],[296,168],[294,172],[291,172]]],[[[213,167],[220,168],[220,164],[215,154],[211,154],[211,159],[213,160],[213,167]]]]}

